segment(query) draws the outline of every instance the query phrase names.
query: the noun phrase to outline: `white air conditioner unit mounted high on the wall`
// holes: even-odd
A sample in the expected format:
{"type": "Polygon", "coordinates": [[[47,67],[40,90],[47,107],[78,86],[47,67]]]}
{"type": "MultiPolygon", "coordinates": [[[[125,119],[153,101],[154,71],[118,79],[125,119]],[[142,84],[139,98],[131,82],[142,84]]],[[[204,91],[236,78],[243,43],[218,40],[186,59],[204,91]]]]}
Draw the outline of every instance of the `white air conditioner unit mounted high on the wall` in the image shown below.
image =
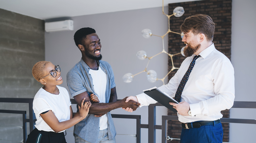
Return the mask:
{"type": "Polygon", "coordinates": [[[74,30],[73,20],[45,22],[46,32],[74,30]]]}

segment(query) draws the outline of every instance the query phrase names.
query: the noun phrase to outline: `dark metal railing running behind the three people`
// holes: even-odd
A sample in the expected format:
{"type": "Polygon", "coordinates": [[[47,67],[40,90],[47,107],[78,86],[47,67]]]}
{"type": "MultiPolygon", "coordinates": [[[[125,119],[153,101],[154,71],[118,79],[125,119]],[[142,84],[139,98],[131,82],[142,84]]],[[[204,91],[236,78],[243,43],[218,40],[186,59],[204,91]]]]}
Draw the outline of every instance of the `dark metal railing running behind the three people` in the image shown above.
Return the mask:
{"type": "MultiPolygon", "coordinates": [[[[74,99],[70,99],[72,104],[76,104],[74,99]]],[[[0,102],[10,103],[28,103],[29,104],[29,119],[26,119],[26,111],[18,110],[0,110],[0,113],[14,113],[23,115],[23,140],[27,139],[27,126],[29,122],[30,132],[35,128],[36,121],[35,114],[33,112],[33,99],[32,98],[0,98],[0,102]],[[31,114],[32,113],[32,114],[31,114]]],[[[162,130],[162,143],[166,143],[166,140],[173,139],[166,135],[166,121],[178,120],[177,116],[162,116],[162,125],[156,125],[156,106],[163,106],[160,103],[150,104],[148,106],[148,124],[140,124],[140,115],[119,115],[112,114],[113,118],[128,118],[136,119],[136,143],[140,143],[140,129],[148,128],[148,143],[156,143],[156,129],[162,130]]],[[[234,102],[232,108],[256,108],[256,102],[234,102]]],[[[253,119],[233,119],[233,118],[221,118],[221,123],[243,123],[243,124],[256,124],[256,120],[253,119]]]]}

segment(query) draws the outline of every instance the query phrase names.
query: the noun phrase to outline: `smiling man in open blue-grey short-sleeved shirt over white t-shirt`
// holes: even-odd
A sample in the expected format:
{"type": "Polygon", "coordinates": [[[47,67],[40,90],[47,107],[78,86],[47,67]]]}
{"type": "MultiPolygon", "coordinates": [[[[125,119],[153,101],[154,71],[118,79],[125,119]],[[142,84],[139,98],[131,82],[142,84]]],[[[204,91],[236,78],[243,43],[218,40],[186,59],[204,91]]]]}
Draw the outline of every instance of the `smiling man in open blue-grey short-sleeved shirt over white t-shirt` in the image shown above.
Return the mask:
{"type": "Polygon", "coordinates": [[[140,103],[126,98],[117,101],[113,70],[108,62],[101,61],[101,44],[92,28],[81,28],[74,35],[76,46],[82,58],[67,74],[67,84],[71,96],[78,105],[99,98],[100,103],[92,103],[88,116],[74,126],[76,143],[115,143],[116,130],[109,111],[116,108],[136,110],[140,103]],[[97,95],[97,97],[95,97],[97,95]]]}

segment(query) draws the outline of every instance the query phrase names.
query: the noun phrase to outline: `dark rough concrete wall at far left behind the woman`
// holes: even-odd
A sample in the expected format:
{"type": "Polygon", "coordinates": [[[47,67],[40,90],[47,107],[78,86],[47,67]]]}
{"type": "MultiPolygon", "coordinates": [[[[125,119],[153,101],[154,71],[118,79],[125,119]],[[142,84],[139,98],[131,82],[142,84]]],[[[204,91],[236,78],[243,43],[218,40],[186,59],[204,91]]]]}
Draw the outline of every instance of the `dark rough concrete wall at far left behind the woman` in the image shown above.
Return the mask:
{"type": "MultiPolygon", "coordinates": [[[[0,9],[0,97],[34,98],[41,85],[32,76],[32,68],[42,60],[44,20],[0,9]]],[[[0,102],[0,109],[29,114],[25,103],[0,102]]],[[[22,129],[16,126],[22,126],[22,115],[0,113],[0,139],[22,140],[22,129]]]]}

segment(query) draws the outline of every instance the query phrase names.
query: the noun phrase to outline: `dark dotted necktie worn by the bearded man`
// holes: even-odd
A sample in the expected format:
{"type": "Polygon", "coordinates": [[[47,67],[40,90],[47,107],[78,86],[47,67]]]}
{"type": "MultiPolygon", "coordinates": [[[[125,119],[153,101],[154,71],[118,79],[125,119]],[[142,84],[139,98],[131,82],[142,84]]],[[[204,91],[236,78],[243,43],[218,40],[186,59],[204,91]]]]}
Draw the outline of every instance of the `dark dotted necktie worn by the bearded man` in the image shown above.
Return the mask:
{"type": "Polygon", "coordinates": [[[180,102],[180,97],[181,97],[181,94],[182,94],[182,91],[185,87],[185,84],[187,83],[188,81],[188,76],[190,74],[190,72],[192,71],[194,65],[195,65],[195,62],[196,62],[196,59],[199,58],[200,55],[198,56],[194,56],[192,62],[190,63],[189,67],[188,67],[188,71],[185,73],[185,75],[183,76],[182,80],[180,81],[180,85],[177,89],[177,92],[175,94],[175,100],[180,102]]]}

